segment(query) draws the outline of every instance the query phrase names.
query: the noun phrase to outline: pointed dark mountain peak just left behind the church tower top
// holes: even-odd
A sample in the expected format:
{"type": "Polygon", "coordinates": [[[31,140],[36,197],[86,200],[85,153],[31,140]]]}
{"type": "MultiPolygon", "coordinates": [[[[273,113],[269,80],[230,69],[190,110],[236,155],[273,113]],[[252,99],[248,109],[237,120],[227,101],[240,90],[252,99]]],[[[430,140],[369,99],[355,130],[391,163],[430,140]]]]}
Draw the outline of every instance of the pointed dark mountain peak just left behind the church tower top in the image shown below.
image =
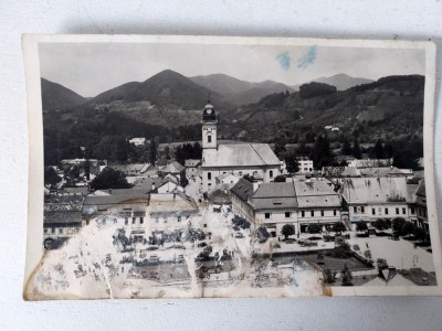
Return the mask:
{"type": "Polygon", "coordinates": [[[229,107],[224,97],[215,92],[193,83],[183,75],[170,70],[162,71],[147,81],[126,83],[106,90],[88,100],[91,105],[149,102],[157,107],[173,109],[201,109],[210,96],[218,108],[229,107]]]}

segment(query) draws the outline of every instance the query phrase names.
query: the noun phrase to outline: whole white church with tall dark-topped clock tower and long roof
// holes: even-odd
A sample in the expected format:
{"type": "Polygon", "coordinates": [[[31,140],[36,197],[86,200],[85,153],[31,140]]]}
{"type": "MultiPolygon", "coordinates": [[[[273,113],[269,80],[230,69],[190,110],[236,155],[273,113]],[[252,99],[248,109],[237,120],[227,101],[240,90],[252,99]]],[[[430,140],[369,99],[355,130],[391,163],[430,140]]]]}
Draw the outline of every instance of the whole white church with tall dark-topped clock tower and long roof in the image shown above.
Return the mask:
{"type": "Polygon", "coordinates": [[[202,113],[202,192],[211,190],[215,179],[225,173],[250,174],[263,182],[281,173],[281,161],[267,143],[218,143],[217,129],[217,113],[209,102],[202,113]]]}

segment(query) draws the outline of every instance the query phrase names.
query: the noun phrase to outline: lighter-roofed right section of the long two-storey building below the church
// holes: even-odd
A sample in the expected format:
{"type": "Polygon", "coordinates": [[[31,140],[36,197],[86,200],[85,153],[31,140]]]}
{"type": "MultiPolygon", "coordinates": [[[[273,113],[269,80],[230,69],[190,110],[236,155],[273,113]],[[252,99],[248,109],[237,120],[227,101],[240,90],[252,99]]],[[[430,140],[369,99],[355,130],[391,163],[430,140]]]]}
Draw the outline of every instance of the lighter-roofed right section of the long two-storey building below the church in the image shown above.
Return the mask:
{"type": "Polygon", "coordinates": [[[333,185],[325,181],[294,182],[297,202],[297,232],[309,232],[308,226],[317,224],[322,231],[332,231],[341,221],[341,204],[333,185]]]}

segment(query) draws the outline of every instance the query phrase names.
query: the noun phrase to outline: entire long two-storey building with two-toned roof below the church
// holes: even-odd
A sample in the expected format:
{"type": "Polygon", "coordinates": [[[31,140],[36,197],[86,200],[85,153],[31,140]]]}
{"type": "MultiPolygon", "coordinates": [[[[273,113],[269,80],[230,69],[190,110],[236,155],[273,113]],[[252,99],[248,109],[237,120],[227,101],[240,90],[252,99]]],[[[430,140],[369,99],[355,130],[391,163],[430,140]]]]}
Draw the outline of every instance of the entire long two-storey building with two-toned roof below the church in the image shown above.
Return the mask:
{"type": "Polygon", "coordinates": [[[241,179],[231,191],[233,212],[265,226],[272,236],[281,235],[285,224],[292,224],[299,235],[313,224],[327,231],[341,221],[339,194],[330,182],[262,183],[253,191],[253,183],[241,179]]]}

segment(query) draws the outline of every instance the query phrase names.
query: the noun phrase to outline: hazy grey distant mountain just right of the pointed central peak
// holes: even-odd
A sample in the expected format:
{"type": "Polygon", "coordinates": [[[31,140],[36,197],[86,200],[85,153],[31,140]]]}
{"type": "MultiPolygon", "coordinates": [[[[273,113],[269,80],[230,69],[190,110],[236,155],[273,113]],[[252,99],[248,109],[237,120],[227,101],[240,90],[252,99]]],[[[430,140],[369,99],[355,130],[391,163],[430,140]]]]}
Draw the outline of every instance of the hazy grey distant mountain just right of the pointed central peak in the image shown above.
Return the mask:
{"type": "Polygon", "coordinates": [[[293,92],[285,84],[264,81],[251,83],[241,81],[224,74],[213,74],[207,76],[194,76],[190,79],[206,88],[223,95],[229,102],[235,105],[248,105],[257,103],[262,97],[278,92],[293,92]]]}

